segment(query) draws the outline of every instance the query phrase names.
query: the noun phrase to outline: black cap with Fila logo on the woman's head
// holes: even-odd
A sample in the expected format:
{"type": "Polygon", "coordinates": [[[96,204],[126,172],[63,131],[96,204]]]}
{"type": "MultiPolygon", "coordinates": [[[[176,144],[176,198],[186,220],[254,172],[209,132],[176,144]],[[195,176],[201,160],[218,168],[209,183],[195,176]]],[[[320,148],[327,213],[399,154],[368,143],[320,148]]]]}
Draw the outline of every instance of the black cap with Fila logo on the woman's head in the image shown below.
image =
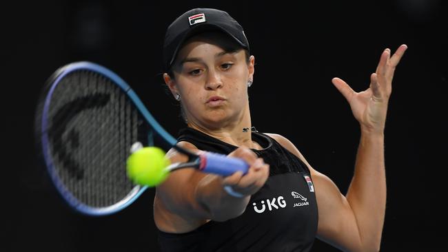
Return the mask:
{"type": "Polygon", "coordinates": [[[207,31],[221,31],[235,39],[249,50],[249,42],[243,27],[230,14],[223,10],[195,8],[178,17],[167,28],[163,43],[163,70],[170,70],[181,45],[195,34],[207,31]]]}

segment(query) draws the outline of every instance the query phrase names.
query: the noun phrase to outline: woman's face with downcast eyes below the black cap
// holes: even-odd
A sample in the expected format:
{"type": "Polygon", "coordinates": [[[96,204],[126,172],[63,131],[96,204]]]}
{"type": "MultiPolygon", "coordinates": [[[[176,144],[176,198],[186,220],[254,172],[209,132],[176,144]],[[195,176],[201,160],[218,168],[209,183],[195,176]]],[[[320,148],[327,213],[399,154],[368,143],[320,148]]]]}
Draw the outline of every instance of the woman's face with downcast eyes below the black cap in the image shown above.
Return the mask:
{"type": "Polygon", "coordinates": [[[247,63],[245,50],[225,52],[216,43],[196,37],[179,51],[174,79],[167,84],[173,94],[181,95],[190,125],[214,129],[249,115],[247,81],[253,74],[254,57],[247,63]]]}

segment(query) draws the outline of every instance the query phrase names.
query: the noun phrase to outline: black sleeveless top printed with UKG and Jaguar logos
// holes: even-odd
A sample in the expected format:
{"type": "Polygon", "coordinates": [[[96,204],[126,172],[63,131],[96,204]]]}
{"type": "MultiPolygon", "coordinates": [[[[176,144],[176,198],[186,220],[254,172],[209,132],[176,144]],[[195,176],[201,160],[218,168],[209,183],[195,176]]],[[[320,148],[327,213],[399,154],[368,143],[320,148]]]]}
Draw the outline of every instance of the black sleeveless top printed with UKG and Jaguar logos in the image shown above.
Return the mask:
{"type": "MultiPolygon", "coordinates": [[[[192,128],[179,132],[179,141],[198,149],[229,154],[237,147],[192,128]]],[[[252,195],[245,212],[232,220],[206,224],[188,233],[159,230],[161,251],[310,251],[318,211],[309,169],[274,138],[252,132],[264,149],[255,153],[269,164],[269,178],[252,195]]]]}

